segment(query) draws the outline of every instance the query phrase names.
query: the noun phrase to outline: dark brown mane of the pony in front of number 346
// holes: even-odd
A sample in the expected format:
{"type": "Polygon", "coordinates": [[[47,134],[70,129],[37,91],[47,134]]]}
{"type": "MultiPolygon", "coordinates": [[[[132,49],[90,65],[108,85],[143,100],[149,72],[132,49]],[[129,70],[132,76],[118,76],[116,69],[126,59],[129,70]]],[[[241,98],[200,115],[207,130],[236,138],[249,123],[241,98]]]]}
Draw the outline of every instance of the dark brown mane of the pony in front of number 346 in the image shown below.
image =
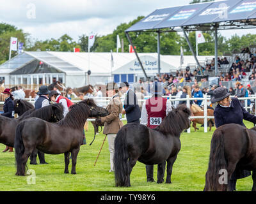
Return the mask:
{"type": "Polygon", "coordinates": [[[187,121],[190,115],[189,108],[186,105],[180,105],[177,109],[172,110],[166,115],[156,130],[164,134],[179,136],[187,128],[187,121]]]}

